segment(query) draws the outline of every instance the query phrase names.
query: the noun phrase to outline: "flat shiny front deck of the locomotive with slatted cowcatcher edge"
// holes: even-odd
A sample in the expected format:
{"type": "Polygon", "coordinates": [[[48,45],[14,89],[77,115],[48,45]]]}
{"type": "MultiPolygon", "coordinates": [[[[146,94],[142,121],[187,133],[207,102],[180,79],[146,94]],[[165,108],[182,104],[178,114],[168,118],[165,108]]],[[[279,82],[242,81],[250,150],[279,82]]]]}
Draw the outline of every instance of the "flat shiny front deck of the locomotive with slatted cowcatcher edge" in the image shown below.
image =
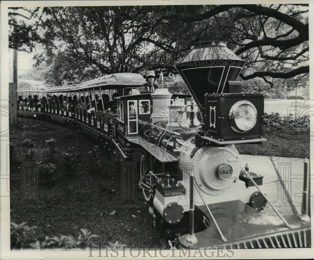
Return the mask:
{"type": "MultiPolygon", "coordinates": [[[[227,241],[222,241],[206,206],[196,206],[195,218],[204,223],[205,229],[199,232],[195,230],[198,242],[192,248],[218,245],[234,248],[308,247],[311,245],[311,223],[302,215],[285,216],[291,225],[289,229],[278,216],[259,212],[240,200],[209,204],[208,207],[227,241]]],[[[186,241],[187,235],[179,237],[183,247],[191,245],[186,241]]]]}

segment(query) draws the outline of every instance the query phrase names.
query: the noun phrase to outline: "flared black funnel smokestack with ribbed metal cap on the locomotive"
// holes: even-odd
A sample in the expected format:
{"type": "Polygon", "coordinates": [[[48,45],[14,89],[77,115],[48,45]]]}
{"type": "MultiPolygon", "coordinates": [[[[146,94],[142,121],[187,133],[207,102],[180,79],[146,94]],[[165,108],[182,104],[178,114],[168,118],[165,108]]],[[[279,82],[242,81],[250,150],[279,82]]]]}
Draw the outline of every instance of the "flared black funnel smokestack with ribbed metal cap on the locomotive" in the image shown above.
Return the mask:
{"type": "Polygon", "coordinates": [[[204,41],[193,45],[176,69],[203,110],[204,95],[229,93],[228,81],[236,80],[244,64],[224,41],[204,41]]]}

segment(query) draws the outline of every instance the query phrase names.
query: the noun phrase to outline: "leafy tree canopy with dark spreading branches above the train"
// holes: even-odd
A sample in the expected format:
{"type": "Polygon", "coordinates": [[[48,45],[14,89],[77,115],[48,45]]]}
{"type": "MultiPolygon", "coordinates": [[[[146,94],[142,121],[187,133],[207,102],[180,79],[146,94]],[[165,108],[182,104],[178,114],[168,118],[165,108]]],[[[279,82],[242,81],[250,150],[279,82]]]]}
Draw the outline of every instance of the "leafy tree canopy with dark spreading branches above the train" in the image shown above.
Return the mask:
{"type": "Polygon", "coordinates": [[[309,72],[305,4],[23,10],[32,15],[34,23],[14,22],[16,15],[10,9],[10,47],[31,51],[35,43],[40,44],[44,54],[36,59],[52,66],[47,80],[54,85],[149,69],[168,76],[175,73],[174,53],[184,55],[192,44],[213,39],[226,41],[246,60],[240,74],[244,80],[261,78],[273,85],[276,79],[309,72]],[[17,41],[21,35],[24,37],[17,41]]]}

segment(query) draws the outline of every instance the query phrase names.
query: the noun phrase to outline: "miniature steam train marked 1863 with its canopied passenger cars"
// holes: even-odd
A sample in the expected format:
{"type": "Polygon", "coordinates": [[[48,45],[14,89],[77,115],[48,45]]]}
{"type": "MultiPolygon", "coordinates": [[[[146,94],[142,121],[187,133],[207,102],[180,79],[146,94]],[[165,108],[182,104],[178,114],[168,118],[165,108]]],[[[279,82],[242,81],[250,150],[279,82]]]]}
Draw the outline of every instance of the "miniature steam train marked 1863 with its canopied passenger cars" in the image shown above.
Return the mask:
{"type": "Polygon", "coordinates": [[[187,104],[189,95],[171,94],[166,88],[133,95],[143,77],[117,73],[82,84],[28,91],[47,100],[76,96],[78,103],[81,97],[86,102],[86,94],[95,99],[96,93],[118,93],[113,99],[116,112],[104,112],[102,103],[103,109],[95,106],[95,112],[89,113],[84,106],[64,106],[58,99],[20,105],[20,112],[77,127],[109,149],[116,160],[128,160],[154,225],[166,240],[192,248],[308,247],[311,223],[306,194],[302,214],[283,216],[275,207],[274,214],[263,213],[267,205],[272,206],[262,189],[263,176],[241,166],[235,144],[266,141],[263,94],[241,93],[241,83],[235,81],[244,65],[225,42],[200,42],[176,63],[195,104],[187,104]]]}

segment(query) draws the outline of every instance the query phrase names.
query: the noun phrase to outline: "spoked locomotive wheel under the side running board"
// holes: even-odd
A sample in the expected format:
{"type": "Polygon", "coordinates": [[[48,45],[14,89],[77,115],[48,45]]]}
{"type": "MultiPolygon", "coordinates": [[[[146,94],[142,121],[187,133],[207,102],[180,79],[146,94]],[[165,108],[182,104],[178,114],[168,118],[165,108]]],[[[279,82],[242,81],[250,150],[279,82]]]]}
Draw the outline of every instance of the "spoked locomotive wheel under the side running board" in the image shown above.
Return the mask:
{"type": "Polygon", "coordinates": [[[145,159],[145,156],[142,155],[140,161],[140,174],[141,174],[141,183],[140,187],[143,190],[143,195],[146,201],[150,201],[153,197],[153,185],[152,185],[152,176],[149,174],[149,162],[145,159]]]}

